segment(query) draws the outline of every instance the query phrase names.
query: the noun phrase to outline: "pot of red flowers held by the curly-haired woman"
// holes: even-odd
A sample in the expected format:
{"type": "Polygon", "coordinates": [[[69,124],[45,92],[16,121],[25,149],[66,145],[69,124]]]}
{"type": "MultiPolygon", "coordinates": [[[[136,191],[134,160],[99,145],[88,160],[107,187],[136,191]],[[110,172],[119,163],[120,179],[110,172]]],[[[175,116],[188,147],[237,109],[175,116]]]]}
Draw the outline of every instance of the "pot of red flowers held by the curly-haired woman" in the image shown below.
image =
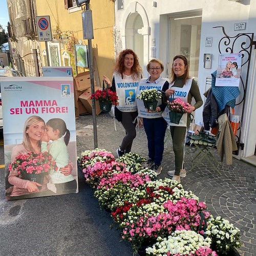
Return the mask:
{"type": "Polygon", "coordinates": [[[102,90],[97,90],[94,94],[92,94],[91,99],[95,99],[99,101],[100,109],[103,112],[110,112],[112,105],[118,104],[118,97],[116,95],[116,92],[112,92],[108,84],[106,85],[106,88],[104,87],[104,81],[103,81],[103,87],[102,90]]]}

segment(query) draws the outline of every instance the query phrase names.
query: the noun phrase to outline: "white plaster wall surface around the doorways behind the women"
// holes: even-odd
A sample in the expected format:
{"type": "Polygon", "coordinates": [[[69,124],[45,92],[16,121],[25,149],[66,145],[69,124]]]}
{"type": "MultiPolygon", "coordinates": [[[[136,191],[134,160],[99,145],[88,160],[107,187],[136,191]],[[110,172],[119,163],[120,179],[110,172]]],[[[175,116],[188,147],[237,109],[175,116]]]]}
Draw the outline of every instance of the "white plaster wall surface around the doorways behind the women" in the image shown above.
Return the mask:
{"type": "MultiPolygon", "coordinates": [[[[179,14],[180,12],[189,12],[193,10],[202,10],[202,28],[201,28],[201,47],[200,47],[200,60],[199,60],[199,86],[204,99],[203,93],[206,90],[205,80],[207,76],[210,76],[218,67],[218,57],[219,57],[219,41],[224,34],[221,28],[213,28],[218,26],[223,26],[225,32],[229,37],[236,36],[238,33],[254,33],[256,34],[256,0],[241,0],[241,2],[232,2],[228,0],[172,0],[172,1],[155,1],[157,7],[153,7],[153,1],[148,0],[138,0],[139,3],[145,10],[148,19],[148,25],[150,27],[149,36],[149,51],[144,52],[144,59],[150,59],[150,49],[152,47],[152,39],[156,41],[156,57],[164,62],[165,68],[168,62],[168,17],[174,14],[179,14]],[[241,31],[234,31],[235,23],[246,23],[246,29],[241,31]],[[206,37],[212,37],[212,47],[205,47],[206,37]],[[203,57],[204,53],[212,54],[211,69],[204,69],[203,57]]],[[[116,25],[125,24],[126,16],[129,6],[136,6],[135,2],[130,2],[124,0],[124,10],[116,12],[116,25]]],[[[131,9],[131,12],[133,10],[131,9]]],[[[180,14],[181,14],[180,13],[180,14]]],[[[139,13],[140,14],[140,13],[139,13]]],[[[124,28],[121,28],[124,29],[124,28]]],[[[254,38],[256,38],[254,36],[254,38]]],[[[254,39],[255,40],[255,39],[254,39]]],[[[223,45],[223,44],[222,44],[223,45]]],[[[123,46],[125,48],[125,46],[123,46]]],[[[234,47],[233,53],[236,53],[236,49],[240,50],[241,45],[234,47]]],[[[221,49],[224,53],[224,48],[221,49]]],[[[145,64],[145,63],[144,63],[145,64]]],[[[170,63],[171,65],[172,63],[170,63]]],[[[164,72],[163,76],[167,76],[164,72]]],[[[147,73],[144,74],[144,77],[147,73]]],[[[252,71],[250,70],[250,76],[252,76],[252,71]]],[[[254,81],[255,82],[255,81],[254,81]]],[[[252,79],[248,83],[248,87],[252,87],[252,79]]],[[[248,89],[249,89],[248,88],[248,89]]],[[[240,100],[242,95],[238,98],[240,100]]],[[[242,106],[239,106],[238,112],[241,113],[242,106]]],[[[198,109],[196,112],[196,122],[202,121],[202,111],[203,107],[198,109]]],[[[244,122],[252,119],[252,113],[245,109],[244,122]],[[248,112],[248,113],[247,113],[248,112]]],[[[252,121],[254,127],[256,125],[256,119],[253,118],[252,121]]],[[[242,131],[245,133],[247,131],[242,131]]],[[[245,138],[242,135],[241,138],[245,138]]],[[[241,141],[244,142],[244,141],[241,141]]],[[[246,142],[250,148],[255,147],[255,141],[246,142]],[[250,144],[250,145],[249,145],[250,144]]],[[[252,151],[244,151],[241,153],[242,156],[252,155],[252,151]],[[247,153],[246,153],[247,152],[247,153]]],[[[253,150],[254,154],[254,150],[253,150]]]]}

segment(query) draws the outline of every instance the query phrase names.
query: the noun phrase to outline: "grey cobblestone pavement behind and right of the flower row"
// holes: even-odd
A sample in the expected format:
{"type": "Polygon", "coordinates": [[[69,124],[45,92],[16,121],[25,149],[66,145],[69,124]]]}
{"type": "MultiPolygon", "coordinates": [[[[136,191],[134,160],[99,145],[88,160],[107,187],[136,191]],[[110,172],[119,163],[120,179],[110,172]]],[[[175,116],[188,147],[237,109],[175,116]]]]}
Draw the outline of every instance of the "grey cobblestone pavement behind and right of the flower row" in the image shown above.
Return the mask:
{"type": "MultiPolygon", "coordinates": [[[[77,154],[94,148],[92,116],[80,116],[77,119],[77,154]],[[89,126],[88,126],[89,125],[89,126]]],[[[116,156],[125,134],[124,129],[109,114],[97,116],[98,148],[105,148],[116,156]]],[[[147,140],[143,127],[137,131],[132,151],[147,157],[147,140]]],[[[242,247],[238,249],[241,255],[256,255],[256,204],[255,176],[256,167],[233,158],[232,165],[221,165],[218,174],[209,163],[203,162],[191,172],[191,164],[195,147],[186,146],[185,168],[186,178],[181,178],[181,184],[187,190],[193,191],[200,201],[204,201],[208,210],[214,216],[221,216],[241,230],[242,247]]],[[[215,150],[215,156],[219,159],[215,150]]],[[[167,171],[174,169],[174,152],[169,133],[166,133],[165,148],[162,161],[163,170],[159,178],[168,177],[167,171]]]]}

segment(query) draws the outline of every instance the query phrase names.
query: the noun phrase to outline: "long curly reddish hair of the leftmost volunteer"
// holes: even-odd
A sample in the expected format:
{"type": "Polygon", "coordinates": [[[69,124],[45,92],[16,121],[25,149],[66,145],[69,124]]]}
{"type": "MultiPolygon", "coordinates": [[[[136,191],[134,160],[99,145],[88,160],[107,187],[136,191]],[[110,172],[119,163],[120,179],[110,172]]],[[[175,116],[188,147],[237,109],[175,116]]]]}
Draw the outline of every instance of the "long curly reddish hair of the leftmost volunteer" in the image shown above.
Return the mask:
{"type": "Polygon", "coordinates": [[[131,68],[132,71],[132,77],[135,78],[135,76],[137,77],[141,77],[142,74],[142,69],[140,67],[140,63],[139,63],[139,59],[137,54],[131,50],[131,49],[125,49],[123,51],[121,51],[117,57],[117,61],[116,61],[116,65],[115,65],[115,71],[117,71],[119,74],[121,74],[122,78],[123,78],[123,72],[124,72],[124,57],[126,54],[132,54],[134,57],[134,63],[133,63],[133,67],[131,68]]]}

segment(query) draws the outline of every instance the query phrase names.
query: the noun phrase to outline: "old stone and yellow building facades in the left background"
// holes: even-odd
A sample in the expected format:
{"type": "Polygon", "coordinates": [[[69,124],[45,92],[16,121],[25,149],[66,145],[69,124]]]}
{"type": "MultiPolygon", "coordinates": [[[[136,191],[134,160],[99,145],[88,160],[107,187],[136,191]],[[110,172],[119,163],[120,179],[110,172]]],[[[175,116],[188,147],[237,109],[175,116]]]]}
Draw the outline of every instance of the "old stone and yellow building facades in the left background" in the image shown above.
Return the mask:
{"type": "MultiPolygon", "coordinates": [[[[83,39],[81,13],[74,0],[7,0],[10,17],[9,44],[14,67],[26,76],[41,75],[43,66],[72,66],[74,75],[86,71],[74,63],[74,46],[88,45],[83,39]],[[38,41],[37,16],[50,16],[52,41],[38,41]],[[47,59],[49,58],[49,63],[47,59]]],[[[114,66],[114,2],[92,1],[93,63],[97,81],[112,75],[114,66]]],[[[99,85],[99,84],[98,84],[99,85]]]]}

